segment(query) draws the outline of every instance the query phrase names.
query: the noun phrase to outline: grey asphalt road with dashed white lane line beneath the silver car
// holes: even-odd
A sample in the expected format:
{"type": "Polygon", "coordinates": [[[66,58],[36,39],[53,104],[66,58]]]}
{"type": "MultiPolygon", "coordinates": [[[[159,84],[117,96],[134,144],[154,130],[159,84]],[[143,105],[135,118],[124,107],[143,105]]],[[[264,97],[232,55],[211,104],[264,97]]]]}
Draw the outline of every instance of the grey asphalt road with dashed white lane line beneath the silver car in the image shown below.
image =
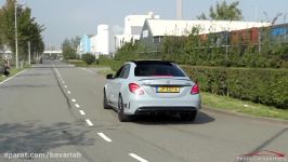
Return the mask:
{"type": "Polygon", "coordinates": [[[97,69],[56,60],[1,83],[0,161],[235,162],[257,150],[288,153],[288,125],[208,110],[195,122],[120,123],[103,109],[104,83],[97,69]]]}

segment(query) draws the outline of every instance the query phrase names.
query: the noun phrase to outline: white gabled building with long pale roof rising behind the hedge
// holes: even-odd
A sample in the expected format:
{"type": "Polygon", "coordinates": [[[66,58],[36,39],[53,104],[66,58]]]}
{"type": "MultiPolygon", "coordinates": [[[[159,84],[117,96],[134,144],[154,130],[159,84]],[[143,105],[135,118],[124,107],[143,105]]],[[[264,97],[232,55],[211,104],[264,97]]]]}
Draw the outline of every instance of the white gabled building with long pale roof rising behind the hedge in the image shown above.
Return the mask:
{"type": "Polygon", "coordinates": [[[252,27],[270,26],[270,23],[239,22],[239,21],[170,21],[146,19],[141,32],[140,41],[146,52],[159,51],[165,36],[187,36],[193,27],[199,28],[199,35],[240,30],[252,27]]]}

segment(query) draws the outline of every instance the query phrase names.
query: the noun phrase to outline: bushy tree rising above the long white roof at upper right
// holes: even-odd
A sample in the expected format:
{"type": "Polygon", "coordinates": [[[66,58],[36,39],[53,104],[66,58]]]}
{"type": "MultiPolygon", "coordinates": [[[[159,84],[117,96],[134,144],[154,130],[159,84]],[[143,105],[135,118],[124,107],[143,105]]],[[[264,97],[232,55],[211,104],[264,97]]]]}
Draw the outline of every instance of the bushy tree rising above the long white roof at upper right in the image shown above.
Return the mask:
{"type": "Polygon", "coordinates": [[[198,19],[225,19],[225,21],[240,21],[243,19],[241,11],[238,9],[239,1],[234,1],[231,4],[224,0],[221,3],[217,2],[215,9],[210,6],[209,17],[201,13],[198,19]]]}

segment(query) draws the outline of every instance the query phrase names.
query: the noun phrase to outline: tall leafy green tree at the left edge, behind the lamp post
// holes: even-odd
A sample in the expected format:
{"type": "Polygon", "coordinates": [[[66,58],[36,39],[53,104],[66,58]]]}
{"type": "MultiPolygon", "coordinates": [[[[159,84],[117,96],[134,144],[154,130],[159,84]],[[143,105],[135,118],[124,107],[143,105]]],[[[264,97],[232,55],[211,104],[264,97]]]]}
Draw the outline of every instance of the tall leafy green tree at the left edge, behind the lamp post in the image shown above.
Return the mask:
{"type": "MultiPolygon", "coordinates": [[[[27,59],[28,41],[31,44],[31,53],[42,53],[44,43],[41,32],[44,30],[35,17],[31,17],[31,9],[17,5],[17,31],[19,59],[27,59]]],[[[0,42],[8,45],[15,53],[15,0],[6,0],[0,9],[0,42]]]]}

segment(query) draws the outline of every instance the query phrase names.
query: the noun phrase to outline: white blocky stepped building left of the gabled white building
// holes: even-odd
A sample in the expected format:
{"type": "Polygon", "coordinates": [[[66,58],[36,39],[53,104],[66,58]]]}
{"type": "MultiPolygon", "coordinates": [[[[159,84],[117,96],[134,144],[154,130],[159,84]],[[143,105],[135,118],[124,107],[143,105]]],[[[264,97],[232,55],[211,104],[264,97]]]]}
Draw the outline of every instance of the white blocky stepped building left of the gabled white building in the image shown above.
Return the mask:
{"type": "Polygon", "coordinates": [[[121,48],[126,42],[140,39],[145,19],[159,19],[159,15],[149,12],[147,15],[128,15],[125,18],[125,29],[122,35],[115,35],[115,48],[121,48]]]}

